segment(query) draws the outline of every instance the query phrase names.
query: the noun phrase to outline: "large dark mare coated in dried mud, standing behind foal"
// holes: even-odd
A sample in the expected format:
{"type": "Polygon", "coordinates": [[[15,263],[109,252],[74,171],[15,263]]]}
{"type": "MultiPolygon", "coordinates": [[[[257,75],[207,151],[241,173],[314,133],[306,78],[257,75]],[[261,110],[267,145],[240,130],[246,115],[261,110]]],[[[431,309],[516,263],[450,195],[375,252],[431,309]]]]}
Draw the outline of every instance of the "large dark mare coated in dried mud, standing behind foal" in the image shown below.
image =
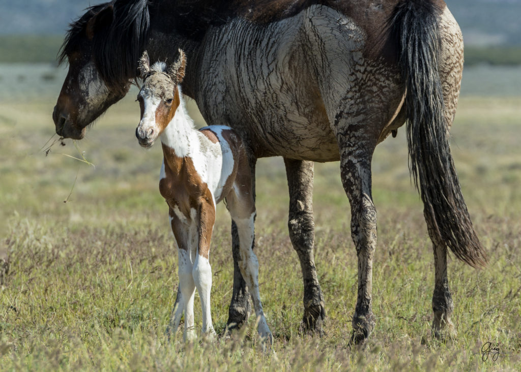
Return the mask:
{"type": "MultiPolygon", "coordinates": [[[[442,0],[115,0],[71,25],[61,61],[69,72],[56,104],[56,133],[85,127],[121,99],[152,60],[190,60],[182,83],[208,123],[244,139],[257,158],[282,156],[290,192],[289,232],[304,278],[303,325],[320,331],[324,297],[313,246],[313,162],[340,160],[358,258],[353,340],[375,326],[371,309],[376,209],[371,158],[407,121],[410,168],[424,202],[435,258],[433,334],[453,330],[448,248],[472,266],[486,259],[454,170],[447,131],[463,69],[460,28],[442,0]]],[[[249,308],[232,224],[234,285],[229,326],[249,308]]]]}

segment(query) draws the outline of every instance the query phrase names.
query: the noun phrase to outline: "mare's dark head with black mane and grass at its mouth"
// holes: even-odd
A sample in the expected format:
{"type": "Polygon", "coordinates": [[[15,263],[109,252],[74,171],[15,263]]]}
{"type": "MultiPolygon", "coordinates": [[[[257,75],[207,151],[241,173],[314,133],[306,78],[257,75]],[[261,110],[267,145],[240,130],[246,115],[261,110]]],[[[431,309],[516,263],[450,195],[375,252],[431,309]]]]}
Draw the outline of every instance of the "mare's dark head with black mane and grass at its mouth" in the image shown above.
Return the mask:
{"type": "Polygon", "coordinates": [[[70,25],[59,57],[69,71],[53,112],[58,135],[83,138],[86,126],[127,94],[149,23],[147,0],[114,0],[70,25]]]}

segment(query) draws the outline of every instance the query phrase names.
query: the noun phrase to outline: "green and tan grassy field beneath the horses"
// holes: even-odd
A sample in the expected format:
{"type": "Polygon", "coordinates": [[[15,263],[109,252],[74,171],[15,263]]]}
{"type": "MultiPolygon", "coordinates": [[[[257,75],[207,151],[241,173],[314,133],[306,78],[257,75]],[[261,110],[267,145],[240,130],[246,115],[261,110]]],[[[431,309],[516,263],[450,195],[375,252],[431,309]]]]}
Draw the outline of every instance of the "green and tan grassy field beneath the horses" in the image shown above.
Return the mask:
{"type": "MultiPolygon", "coordinates": [[[[0,103],[0,249],[10,270],[0,292],[2,370],[518,370],[521,366],[521,98],[460,102],[453,155],[490,263],[449,262],[458,337],[430,336],[433,257],[423,207],[411,186],[404,130],[373,162],[378,210],[376,328],[349,345],[357,289],[349,203],[339,164],[316,164],[316,263],[326,299],[325,336],[299,335],[302,278],[287,233],[280,158],[257,167],[256,253],[274,354],[254,321],[232,340],[184,345],[164,335],[177,288],[167,207],[157,188],[160,148],[134,137],[139,108],[122,101],[77,145],[47,154],[55,97],[0,103]],[[76,179],[76,182],[75,182],[76,179]],[[71,190],[72,189],[72,190],[71,190]],[[64,202],[67,200],[67,202],[64,202]],[[499,344],[482,360],[483,344],[499,344]]],[[[198,119],[200,120],[200,119],[198,119]]],[[[212,311],[224,328],[231,295],[230,220],[218,209],[212,311]]],[[[201,327],[199,301],[196,327],[201,327]]]]}

